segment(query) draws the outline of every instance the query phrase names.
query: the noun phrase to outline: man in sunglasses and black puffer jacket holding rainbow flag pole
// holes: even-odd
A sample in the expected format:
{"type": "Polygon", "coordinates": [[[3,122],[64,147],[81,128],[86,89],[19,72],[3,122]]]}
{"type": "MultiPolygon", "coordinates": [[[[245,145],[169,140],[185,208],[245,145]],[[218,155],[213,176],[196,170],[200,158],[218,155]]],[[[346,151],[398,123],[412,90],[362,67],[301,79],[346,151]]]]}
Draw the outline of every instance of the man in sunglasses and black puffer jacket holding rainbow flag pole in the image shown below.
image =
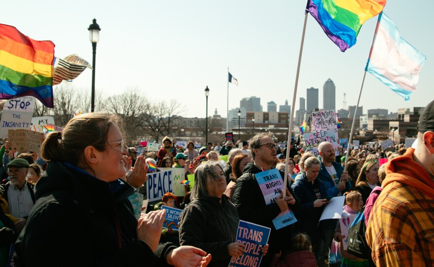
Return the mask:
{"type": "MultiPolygon", "coordinates": [[[[286,189],[286,196],[283,192],[274,203],[265,204],[264,196],[256,181],[255,174],[273,168],[276,161],[276,144],[268,134],[257,134],[249,140],[253,162],[246,165],[241,175],[237,179],[233,203],[237,206],[241,220],[252,222],[258,225],[271,228],[268,239],[268,253],[262,258],[260,266],[269,266],[275,253],[282,252],[286,255],[289,251],[292,236],[292,225],[276,230],[272,220],[279,213],[294,209],[299,206],[289,183],[286,189]]],[[[284,173],[282,175],[282,184],[284,173]]]]}

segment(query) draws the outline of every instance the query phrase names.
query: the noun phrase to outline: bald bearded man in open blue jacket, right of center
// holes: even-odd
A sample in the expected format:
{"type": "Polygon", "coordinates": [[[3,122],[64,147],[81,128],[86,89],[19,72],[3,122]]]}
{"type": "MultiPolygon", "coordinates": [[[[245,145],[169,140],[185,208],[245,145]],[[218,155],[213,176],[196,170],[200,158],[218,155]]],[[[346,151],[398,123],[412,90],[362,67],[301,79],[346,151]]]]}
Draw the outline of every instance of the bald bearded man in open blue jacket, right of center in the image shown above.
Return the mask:
{"type": "MultiPolygon", "coordinates": [[[[336,162],[333,145],[329,142],[322,142],[318,146],[321,156],[321,169],[318,178],[325,184],[325,194],[327,197],[342,196],[344,192],[351,190],[351,183],[348,180],[348,172],[336,162]]],[[[337,220],[329,219],[320,222],[319,233],[323,233],[319,239],[316,251],[317,263],[319,267],[324,266],[325,258],[328,258],[328,248],[333,238],[337,220]]]]}

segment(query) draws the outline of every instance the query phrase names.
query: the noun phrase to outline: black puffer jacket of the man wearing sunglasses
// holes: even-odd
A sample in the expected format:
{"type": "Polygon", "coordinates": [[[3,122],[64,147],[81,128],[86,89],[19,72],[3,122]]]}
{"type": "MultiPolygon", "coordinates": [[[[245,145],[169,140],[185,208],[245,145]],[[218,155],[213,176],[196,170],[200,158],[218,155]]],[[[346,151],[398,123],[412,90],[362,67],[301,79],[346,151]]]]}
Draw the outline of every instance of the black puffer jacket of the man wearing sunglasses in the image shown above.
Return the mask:
{"type": "MultiPolygon", "coordinates": [[[[277,203],[265,205],[264,196],[254,177],[255,173],[261,172],[261,169],[254,166],[253,163],[248,163],[243,170],[243,175],[237,179],[237,185],[233,197],[233,203],[237,206],[240,219],[271,228],[270,238],[268,239],[267,257],[272,257],[274,252],[279,252],[281,249],[286,249],[290,246],[292,235],[292,225],[276,230],[272,220],[280,213],[280,208],[277,203]]],[[[284,173],[280,172],[283,176],[284,173]]],[[[287,185],[289,193],[295,198],[295,204],[289,205],[289,208],[294,211],[300,205],[300,201],[292,192],[292,189],[287,185]]]]}

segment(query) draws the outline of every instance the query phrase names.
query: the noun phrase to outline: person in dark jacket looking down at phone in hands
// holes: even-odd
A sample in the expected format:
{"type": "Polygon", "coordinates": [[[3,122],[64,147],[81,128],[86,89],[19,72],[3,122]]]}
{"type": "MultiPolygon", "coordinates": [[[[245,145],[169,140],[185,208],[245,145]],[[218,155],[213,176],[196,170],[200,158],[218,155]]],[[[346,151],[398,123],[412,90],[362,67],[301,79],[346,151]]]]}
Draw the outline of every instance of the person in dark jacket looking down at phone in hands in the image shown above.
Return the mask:
{"type": "Polygon", "coordinates": [[[315,247],[318,242],[318,222],[327,203],[325,199],[324,182],[317,179],[320,172],[320,161],[315,157],[310,157],[304,162],[304,169],[300,179],[296,180],[291,186],[295,196],[300,200],[300,208],[295,212],[297,218],[296,232],[305,233],[312,240],[315,247]]]}

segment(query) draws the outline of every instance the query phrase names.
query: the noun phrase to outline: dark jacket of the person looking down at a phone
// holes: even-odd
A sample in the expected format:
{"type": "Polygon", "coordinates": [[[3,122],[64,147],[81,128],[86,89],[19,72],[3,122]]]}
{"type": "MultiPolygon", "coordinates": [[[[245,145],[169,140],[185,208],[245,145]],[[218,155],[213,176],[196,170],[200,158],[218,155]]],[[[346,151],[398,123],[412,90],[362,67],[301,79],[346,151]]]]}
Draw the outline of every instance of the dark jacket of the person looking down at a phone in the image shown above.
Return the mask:
{"type": "Polygon", "coordinates": [[[320,179],[315,179],[314,183],[306,178],[306,172],[303,172],[301,178],[297,179],[292,185],[292,190],[295,196],[300,200],[300,208],[294,212],[297,218],[298,231],[309,235],[313,241],[313,237],[318,227],[321,214],[325,205],[314,207],[314,201],[321,198],[325,199],[325,185],[320,179]],[[316,194],[319,194],[318,197],[316,194]]]}

